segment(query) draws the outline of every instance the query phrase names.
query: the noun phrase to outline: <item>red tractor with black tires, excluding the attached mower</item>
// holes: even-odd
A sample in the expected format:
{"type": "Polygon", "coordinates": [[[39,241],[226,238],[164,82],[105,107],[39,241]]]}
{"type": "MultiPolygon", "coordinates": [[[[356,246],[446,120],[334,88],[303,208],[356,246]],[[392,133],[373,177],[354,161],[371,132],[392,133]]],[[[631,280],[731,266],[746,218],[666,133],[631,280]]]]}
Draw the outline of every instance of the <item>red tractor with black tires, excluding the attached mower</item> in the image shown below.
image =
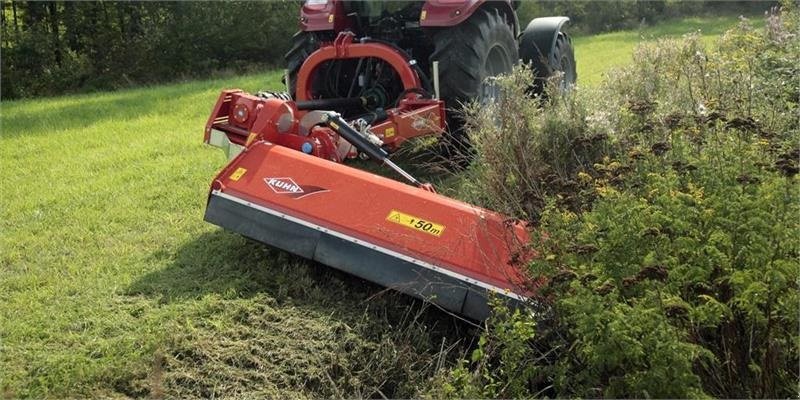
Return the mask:
{"type": "Polygon", "coordinates": [[[537,18],[520,26],[518,5],[508,0],[308,0],[286,54],[289,93],[299,101],[365,99],[339,106],[348,116],[395,107],[411,90],[441,99],[451,109],[486,101],[494,95],[486,78],[510,72],[520,61],[532,65],[536,92],[559,72],[562,84],[574,84],[572,42],[562,31],[569,18],[537,18]],[[308,59],[343,33],[350,35],[347,41],[381,45],[371,47],[380,51],[308,59]],[[387,53],[399,54],[402,65],[383,57],[387,53]],[[417,76],[419,83],[408,87],[404,75],[417,76]]]}

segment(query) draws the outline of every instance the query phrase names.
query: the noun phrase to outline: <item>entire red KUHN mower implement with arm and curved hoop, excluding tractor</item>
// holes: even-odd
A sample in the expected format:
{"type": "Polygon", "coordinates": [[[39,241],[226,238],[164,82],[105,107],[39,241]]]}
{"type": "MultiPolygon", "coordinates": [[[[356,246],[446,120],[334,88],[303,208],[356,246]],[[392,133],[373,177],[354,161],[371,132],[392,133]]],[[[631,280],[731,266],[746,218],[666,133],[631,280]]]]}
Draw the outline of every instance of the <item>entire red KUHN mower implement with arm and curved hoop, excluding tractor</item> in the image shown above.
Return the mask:
{"type": "MultiPolygon", "coordinates": [[[[405,140],[439,135],[444,103],[417,90],[401,53],[340,35],[313,63],[367,54],[390,63],[408,86],[395,107],[364,115],[336,110],[365,98],[318,99],[298,84],[288,95],[223,91],[204,141],[228,164],[211,184],[205,220],[278,249],[483,320],[490,299],[521,304],[535,291],[524,265],[536,254],[529,227],[435,193],[390,159],[405,140]],[[343,162],[362,156],[410,184],[343,162]]],[[[304,65],[300,76],[313,76],[304,65]]],[[[309,78],[310,79],[310,78],[309,78]]]]}

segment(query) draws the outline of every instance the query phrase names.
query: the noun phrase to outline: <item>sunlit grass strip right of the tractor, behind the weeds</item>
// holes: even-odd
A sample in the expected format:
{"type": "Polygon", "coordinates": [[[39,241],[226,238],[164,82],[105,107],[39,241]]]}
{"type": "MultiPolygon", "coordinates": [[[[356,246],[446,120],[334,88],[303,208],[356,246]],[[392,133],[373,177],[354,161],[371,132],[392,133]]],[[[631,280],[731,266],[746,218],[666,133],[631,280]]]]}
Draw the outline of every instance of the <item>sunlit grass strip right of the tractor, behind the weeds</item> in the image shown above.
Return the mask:
{"type": "MultiPolygon", "coordinates": [[[[604,74],[628,64],[633,50],[643,40],[680,37],[699,32],[708,46],[727,29],[739,21],[736,16],[688,17],[669,23],[643,27],[639,30],[578,36],[573,39],[575,59],[578,64],[578,83],[595,86],[603,81],[604,74]]],[[[763,18],[751,17],[754,26],[763,26],[763,18]]]]}

